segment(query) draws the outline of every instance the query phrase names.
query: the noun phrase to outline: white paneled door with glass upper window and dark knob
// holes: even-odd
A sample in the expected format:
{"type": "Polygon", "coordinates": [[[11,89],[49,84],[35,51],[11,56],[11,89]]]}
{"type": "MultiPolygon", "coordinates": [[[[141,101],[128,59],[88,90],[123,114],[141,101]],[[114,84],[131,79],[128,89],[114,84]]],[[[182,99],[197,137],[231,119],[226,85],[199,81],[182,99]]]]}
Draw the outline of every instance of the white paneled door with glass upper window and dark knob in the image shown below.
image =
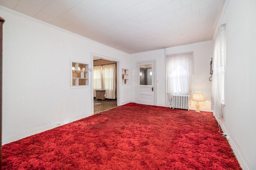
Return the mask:
{"type": "Polygon", "coordinates": [[[154,106],[154,62],[137,63],[137,103],[154,106]]]}

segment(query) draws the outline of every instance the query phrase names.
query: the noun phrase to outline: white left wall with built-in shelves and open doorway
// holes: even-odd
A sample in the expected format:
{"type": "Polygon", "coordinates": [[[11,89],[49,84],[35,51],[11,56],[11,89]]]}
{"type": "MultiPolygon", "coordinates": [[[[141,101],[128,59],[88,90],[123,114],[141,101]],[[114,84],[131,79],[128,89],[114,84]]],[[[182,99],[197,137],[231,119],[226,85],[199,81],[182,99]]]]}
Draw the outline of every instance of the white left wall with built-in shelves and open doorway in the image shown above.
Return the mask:
{"type": "MultiPolygon", "coordinates": [[[[70,60],[87,62],[91,52],[120,61],[129,55],[0,6],[3,25],[2,143],[93,114],[91,86],[70,88],[70,60]]],[[[124,62],[123,62],[124,61],[124,62]]],[[[120,103],[130,102],[120,85],[120,103]]]]}

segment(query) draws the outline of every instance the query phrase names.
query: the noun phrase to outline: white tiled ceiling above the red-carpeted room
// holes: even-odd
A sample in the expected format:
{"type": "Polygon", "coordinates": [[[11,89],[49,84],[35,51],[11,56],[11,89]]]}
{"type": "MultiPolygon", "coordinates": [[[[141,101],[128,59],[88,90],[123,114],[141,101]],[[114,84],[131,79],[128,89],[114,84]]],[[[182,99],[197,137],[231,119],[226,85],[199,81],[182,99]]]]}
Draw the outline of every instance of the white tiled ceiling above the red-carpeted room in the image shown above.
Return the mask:
{"type": "Polygon", "coordinates": [[[225,0],[0,0],[126,53],[212,40],[225,0]]]}

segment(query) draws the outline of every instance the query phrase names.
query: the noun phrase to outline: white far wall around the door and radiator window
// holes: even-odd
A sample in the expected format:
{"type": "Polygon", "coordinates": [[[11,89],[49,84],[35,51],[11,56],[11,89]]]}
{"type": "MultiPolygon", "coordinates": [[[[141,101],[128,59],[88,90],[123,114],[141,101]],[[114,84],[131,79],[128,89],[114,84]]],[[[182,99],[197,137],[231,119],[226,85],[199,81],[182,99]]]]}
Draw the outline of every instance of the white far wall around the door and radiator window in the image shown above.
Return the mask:
{"type": "MultiPolygon", "coordinates": [[[[210,77],[210,61],[212,58],[212,41],[202,43],[194,43],[179,47],[172,47],[144,53],[136,53],[131,55],[130,68],[132,74],[131,101],[136,98],[136,61],[156,60],[156,105],[170,106],[170,102],[166,101],[166,54],[184,53],[194,51],[194,75],[192,76],[192,92],[202,91],[206,102],[200,102],[200,110],[211,111],[211,82],[210,77]],[[166,53],[166,54],[165,54],[166,53]]],[[[196,102],[191,103],[191,109],[196,109],[196,102]]]]}

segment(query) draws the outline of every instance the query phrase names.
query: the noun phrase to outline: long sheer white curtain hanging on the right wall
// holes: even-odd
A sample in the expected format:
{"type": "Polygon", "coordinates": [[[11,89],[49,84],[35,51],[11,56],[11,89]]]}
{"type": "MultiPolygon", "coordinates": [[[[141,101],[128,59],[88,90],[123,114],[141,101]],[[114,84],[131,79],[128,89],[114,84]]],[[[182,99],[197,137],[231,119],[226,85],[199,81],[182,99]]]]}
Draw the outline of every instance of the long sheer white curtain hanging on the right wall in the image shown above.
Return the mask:
{"type": "Polygon", "coordinates": [[[226,24],[220,25],[215,39],[212,61],[212,100],[213,115],[220,118],[224,104],[224,71],[226,66],[226,24]]]}

